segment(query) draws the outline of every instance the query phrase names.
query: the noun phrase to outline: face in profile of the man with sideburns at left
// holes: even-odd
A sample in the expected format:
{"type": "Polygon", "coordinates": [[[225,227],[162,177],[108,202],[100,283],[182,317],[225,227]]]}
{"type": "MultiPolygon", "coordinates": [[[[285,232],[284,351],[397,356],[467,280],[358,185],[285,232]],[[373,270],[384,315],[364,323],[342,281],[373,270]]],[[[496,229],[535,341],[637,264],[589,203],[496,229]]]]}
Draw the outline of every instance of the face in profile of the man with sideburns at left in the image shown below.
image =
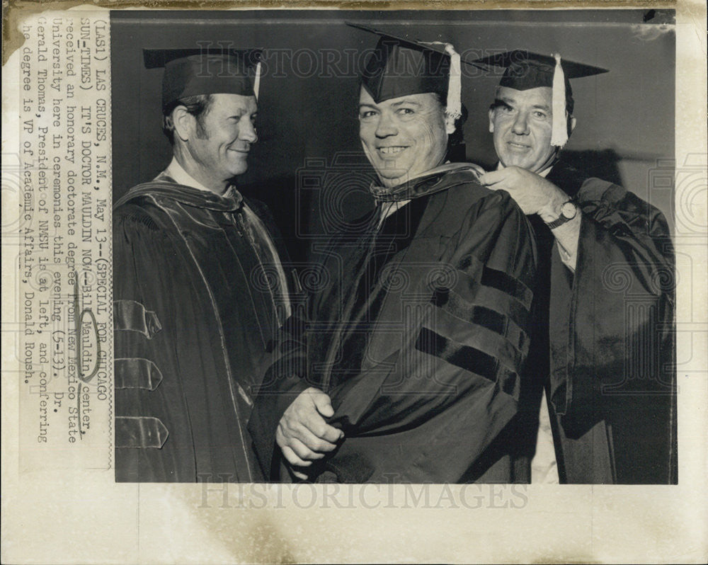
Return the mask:
{"type": "Polygon", "coordinates": [[[212,95],[210,108],[201,116],[201,126],[195,123],[194,135],[187,142],[188,154],[200,178],[223,186],[229,178],[246,172],[246,157],[258,139],[253,127],[256,110],[254,96],[212,95]]]}

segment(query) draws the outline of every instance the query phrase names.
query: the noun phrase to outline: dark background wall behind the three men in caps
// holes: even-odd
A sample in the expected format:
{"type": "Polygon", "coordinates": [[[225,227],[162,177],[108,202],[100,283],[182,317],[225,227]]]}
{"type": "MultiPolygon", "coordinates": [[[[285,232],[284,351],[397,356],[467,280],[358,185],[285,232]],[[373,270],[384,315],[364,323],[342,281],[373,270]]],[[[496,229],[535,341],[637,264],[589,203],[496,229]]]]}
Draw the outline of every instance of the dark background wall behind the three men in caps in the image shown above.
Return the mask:
{"type": "MultiPolygon", "coordinates": [[[[356,75],[373,35],[368,23],[424,41],[452,42],[483,56],[526,48],[610,69],[573,81],[578,126],[566,155],[596,176],[622,183],[672,222],[675,34],[672,13],[606,11],[126,11],[111,14],[113,196],[169,163],[161,132],[161,70],[142,64],[144,47],[263,47],[258,135],[239,188],[266,202],[295,259],[319,234],[367,211],[372,171],[358,141],[356,75]],[[645,20],[648,23],[645,23],[645,20]],[[660,171],[661,172],[661,171],[660,171]],[[670,174],[670,172],[669,172],[670,174]],[[656,186],[654,186],[656,185],[656,186]]],[[[486,110],[498,76],[472,67],[462,79],[469,110],[467,159],[496,161],[486,110]]]]}

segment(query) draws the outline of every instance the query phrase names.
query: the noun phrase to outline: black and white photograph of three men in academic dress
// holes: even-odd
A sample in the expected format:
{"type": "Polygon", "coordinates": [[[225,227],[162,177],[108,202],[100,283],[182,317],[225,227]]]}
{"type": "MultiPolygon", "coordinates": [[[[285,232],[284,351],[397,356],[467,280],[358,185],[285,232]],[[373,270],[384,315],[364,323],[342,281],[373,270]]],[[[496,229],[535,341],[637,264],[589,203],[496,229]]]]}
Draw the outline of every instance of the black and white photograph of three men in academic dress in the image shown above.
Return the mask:
{"type": "Polygon", "coordinates": [[[676,484],[673,13],[552,16],[113,14],[117,481],[676,484]]]}

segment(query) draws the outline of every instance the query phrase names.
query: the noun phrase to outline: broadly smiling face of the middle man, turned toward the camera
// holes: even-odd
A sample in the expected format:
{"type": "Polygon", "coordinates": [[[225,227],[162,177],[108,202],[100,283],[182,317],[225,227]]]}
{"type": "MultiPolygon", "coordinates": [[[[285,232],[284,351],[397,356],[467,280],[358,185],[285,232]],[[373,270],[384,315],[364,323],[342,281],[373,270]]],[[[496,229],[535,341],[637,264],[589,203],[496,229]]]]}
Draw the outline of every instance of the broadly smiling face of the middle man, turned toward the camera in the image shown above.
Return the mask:
{"type": "Polygon", "coordinates": [[[445,112],[433,93],[377,104],[362,87],[359,137],[384,187],[397,186],[442,163],[447,134],[445,112]]]}

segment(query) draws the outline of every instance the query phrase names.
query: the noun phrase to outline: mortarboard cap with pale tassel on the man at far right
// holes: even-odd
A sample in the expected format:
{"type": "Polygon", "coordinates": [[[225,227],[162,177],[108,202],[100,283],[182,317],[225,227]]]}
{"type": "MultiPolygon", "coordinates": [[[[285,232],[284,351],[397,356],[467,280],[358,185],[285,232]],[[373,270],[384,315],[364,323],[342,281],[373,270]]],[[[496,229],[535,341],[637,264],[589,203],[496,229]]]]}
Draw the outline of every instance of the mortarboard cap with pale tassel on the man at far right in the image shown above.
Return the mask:
{"type": "Polygon", "coordinates": [[[563,146],[568,140],[566,110],[573,113],[573,90],[570,79],[606,73],[607,69],[589,64],[576,63],[563,59],[560,55],[540,55],[527,50],[516,49],[496,55],[490,55],[474,61],[488,67],[506,69],[499,86],[510,89],[528,90],[540,86],[553,89],[553,130],[552,144],[563,146]],[[559,118],[560,116],[560,118],[559,118]]]}

